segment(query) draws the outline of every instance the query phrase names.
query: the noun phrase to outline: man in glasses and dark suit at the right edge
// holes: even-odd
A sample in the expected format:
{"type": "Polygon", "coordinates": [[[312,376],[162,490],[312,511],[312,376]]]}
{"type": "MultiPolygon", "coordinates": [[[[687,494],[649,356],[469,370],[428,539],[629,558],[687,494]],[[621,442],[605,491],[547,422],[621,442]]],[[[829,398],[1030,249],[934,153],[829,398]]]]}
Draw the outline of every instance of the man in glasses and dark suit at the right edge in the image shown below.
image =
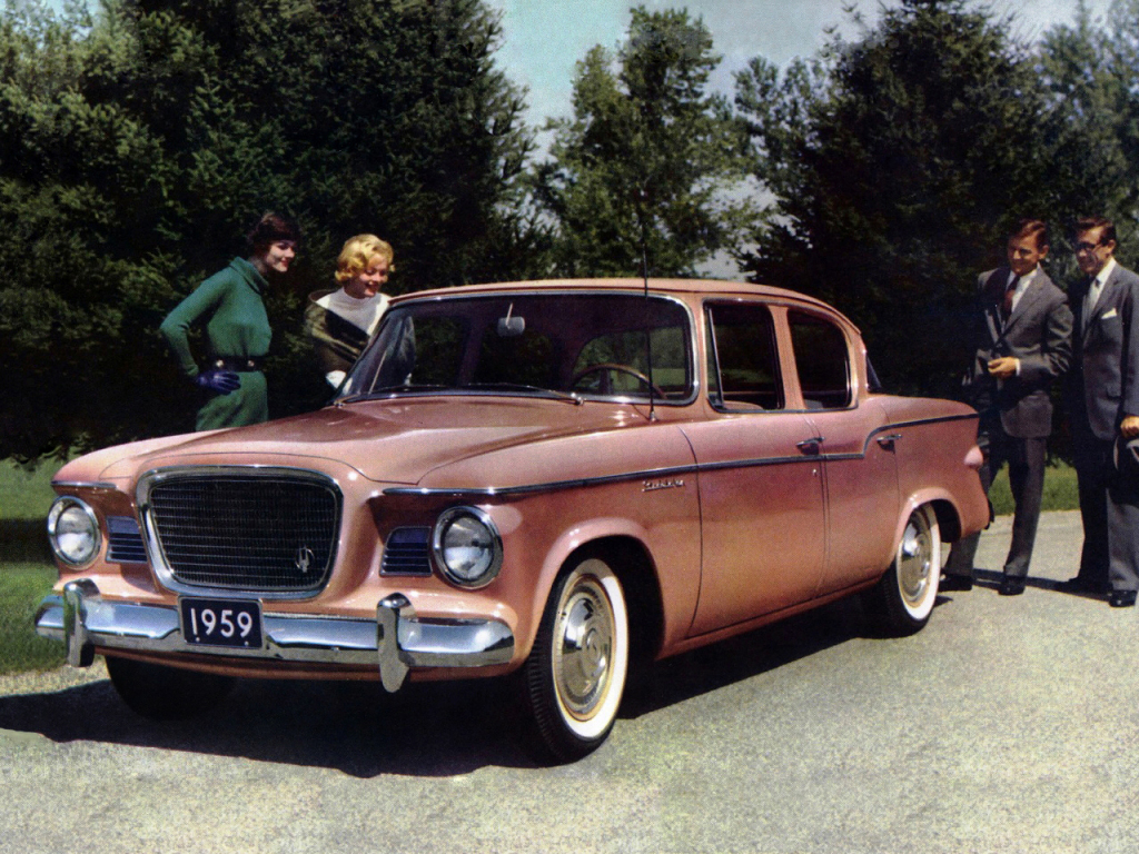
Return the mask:
{"type": "Polygon", "coordinates": [[[1076,262],[1085,277],[1070,291],[1075,312],[1072,372],[1065,384],[1083,518],[1080,573],[1065,583],[1107,593],[1115,608],[1139,589],[1139,495],[1116,473],[1116,442],[1139,436],[1139,277],[1115,261],[1115,227],[1103,217],[1076,223],[1076,262]]]}

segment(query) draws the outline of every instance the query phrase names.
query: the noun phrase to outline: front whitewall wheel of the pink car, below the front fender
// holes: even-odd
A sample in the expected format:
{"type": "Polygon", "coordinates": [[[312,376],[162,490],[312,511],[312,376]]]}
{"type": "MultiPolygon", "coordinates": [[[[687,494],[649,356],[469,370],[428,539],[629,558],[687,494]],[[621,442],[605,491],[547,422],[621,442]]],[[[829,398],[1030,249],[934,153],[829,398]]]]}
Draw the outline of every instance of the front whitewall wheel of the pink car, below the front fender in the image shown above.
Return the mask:
{"type": "Polygon", "coordinates": [[[605,741],[629,672],[625,597],[608,564],[587,558],[558,578],[524,671],[543,758],[573,762],[605,741]]]}

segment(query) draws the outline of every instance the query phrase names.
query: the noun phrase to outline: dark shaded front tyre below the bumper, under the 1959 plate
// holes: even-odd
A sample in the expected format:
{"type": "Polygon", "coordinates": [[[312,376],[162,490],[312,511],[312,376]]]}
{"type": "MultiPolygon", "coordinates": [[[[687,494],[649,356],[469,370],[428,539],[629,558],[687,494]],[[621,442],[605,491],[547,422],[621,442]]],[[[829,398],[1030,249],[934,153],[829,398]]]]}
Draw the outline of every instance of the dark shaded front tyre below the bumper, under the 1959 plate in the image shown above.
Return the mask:
{"type": "Polygon", "coordinates": [[[133,658],[107,658],[107,672],[123,703],[151,721],[196,717],[229,693],[236,681],[133,658]]]}

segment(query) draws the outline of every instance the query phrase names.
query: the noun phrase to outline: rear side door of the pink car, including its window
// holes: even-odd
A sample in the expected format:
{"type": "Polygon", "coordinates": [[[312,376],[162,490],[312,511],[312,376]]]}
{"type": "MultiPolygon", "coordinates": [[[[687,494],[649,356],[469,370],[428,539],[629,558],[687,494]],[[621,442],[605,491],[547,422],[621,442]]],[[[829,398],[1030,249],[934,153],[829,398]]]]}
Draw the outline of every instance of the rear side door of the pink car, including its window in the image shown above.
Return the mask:
{"type": "Polygon", "coordinates": [[[879,575],[890,563],[900,434],[884,429],[880,407],[859,401],[851,342],[837,323],[792,310],[787,327],[806,418],[821,440],[827,568],[819,592],[830,593],[879,575]]]}

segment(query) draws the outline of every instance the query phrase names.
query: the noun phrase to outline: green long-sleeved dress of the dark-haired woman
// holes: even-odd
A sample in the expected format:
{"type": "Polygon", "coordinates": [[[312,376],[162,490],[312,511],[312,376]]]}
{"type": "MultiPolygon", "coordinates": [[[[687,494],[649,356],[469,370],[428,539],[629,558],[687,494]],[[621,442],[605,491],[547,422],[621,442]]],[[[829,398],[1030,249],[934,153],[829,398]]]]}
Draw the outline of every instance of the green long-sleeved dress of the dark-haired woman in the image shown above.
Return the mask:
{"type": "MultiPolygon", "coordinates": [[[[186,376],[198,376],[190,353],[188,332],[206,319],[208,361],[218,359],[262,359],[269,352],[272,330],[262,295],[264,277],[245,258],[233,258],[229,266],[211,276],[178,304],[159,330],[170,343],[186,376]]],[[[240,387],[230,394],[215,394],[198,410],[196,429],[214,430],[269,420],[269,392],[260,370],[238,372],[240,387]]]]}

